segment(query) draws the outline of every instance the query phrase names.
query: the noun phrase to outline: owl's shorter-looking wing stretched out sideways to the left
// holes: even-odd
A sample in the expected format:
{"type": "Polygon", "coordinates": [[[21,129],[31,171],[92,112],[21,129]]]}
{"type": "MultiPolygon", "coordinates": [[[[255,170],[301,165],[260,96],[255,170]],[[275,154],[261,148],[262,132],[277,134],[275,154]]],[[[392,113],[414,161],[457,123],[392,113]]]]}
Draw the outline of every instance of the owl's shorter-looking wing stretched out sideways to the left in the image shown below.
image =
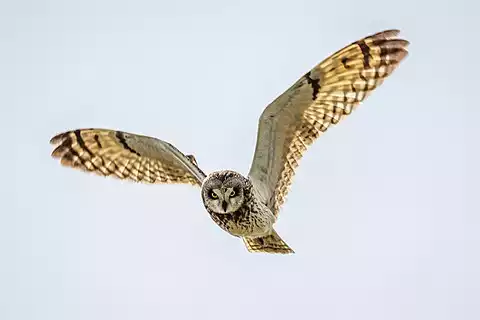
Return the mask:
{"type": "Polygon", "coordinates": [[[168,142],[137,134],[79,129],[56,135],[52,157],[61,164],[102,176],[146,183],[201,185],[205,174],[191,155],[168,142]]]}

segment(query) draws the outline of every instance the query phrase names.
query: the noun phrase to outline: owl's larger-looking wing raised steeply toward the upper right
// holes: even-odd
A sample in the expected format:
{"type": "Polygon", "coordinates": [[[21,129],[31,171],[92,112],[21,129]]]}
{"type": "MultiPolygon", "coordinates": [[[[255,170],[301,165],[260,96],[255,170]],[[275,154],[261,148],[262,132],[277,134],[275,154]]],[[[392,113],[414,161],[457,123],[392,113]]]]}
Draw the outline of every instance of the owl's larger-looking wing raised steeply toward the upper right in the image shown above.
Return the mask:
{"type": "Polygon", "coordinates": [[[262,113],[249,177],[275,215],[307,147],[362,102],[407,56],[408,41],[387,30],[334,53],[262,113]]]}

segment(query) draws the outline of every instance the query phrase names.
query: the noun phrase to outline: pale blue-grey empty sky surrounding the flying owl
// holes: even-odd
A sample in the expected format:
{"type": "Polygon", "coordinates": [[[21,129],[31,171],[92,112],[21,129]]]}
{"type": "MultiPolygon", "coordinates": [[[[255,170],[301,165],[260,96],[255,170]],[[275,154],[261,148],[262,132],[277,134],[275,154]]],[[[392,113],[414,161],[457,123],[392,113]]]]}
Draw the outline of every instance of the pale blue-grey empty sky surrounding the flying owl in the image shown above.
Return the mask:
{"type": "Polygon", "coordinates": [[[0,319],[480,319],[475,1],[0,2],[0,319]],[[389,28],[410,55],[302,160],[249,254],[198,188],[61,167],[49,139],[151,135],[247,173],[264,107],[389,28]]]}

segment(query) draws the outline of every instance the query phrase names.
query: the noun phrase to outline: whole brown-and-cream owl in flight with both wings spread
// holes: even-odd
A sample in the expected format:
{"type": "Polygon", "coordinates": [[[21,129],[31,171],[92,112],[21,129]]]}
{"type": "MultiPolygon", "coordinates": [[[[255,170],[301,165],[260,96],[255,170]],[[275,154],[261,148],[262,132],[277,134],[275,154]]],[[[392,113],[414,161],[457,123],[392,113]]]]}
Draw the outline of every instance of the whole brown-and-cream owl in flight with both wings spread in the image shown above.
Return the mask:
{"type": "Polygon", "coordinates": [[[250,252],[294,251],[274,224],[307,148],[352,113],[407,56],[398,30],[353,42],[304,74],[260,116],[248,175],[232,170],[206,175],[193,155],[156,138],[108,129],[78,129],[54,136],[62,165],[144,183],[199,186],[212,220],[239,237],[250,252]]]}

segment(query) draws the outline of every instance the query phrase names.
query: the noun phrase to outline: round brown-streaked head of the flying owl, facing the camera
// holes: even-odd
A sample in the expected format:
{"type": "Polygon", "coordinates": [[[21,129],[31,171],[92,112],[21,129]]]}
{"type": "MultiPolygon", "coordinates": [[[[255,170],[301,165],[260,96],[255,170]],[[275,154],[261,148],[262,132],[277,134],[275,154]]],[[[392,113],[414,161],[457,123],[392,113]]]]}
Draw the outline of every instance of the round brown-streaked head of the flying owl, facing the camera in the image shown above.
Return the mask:
{"type": "Polygon", "coordinates": [[[203,204],[217,214],[236,212],[249,196],[250,187],[250,181],[235,171],[213,172],[202,184],[203,204]]]}

